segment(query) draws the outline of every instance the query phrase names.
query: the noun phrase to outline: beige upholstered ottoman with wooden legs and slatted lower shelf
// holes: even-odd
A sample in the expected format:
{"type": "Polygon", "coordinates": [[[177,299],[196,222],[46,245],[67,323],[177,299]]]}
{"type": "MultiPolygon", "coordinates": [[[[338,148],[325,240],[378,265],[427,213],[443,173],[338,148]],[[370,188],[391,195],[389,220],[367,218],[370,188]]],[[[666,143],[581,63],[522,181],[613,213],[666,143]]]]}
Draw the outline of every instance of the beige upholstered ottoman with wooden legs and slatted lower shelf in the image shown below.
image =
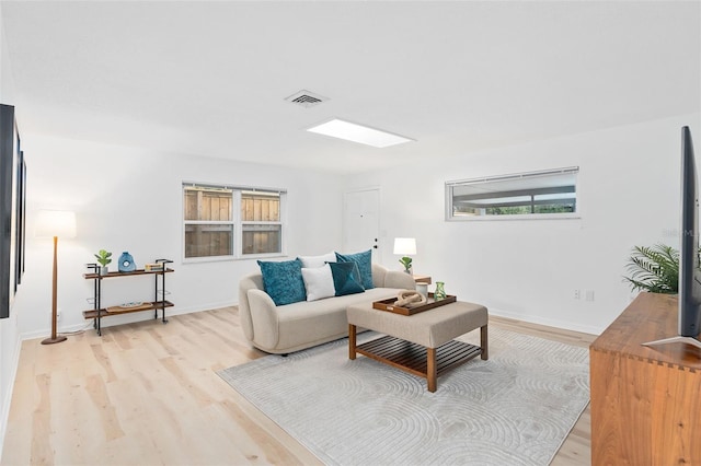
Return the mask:
{"type": "Polygon", "coordinates": [[[478,354],[489,358],[486,307],[455,302],[414,315],[372,308],[372,303],[352,305],[348,316],[348,357],[364,354],[427,380],[436,392],[437,377],[478,354]],[[357,327],[387,336],[356,343],[357,327]],[[480,328],[480,347],[453,338],[480,328]]]}

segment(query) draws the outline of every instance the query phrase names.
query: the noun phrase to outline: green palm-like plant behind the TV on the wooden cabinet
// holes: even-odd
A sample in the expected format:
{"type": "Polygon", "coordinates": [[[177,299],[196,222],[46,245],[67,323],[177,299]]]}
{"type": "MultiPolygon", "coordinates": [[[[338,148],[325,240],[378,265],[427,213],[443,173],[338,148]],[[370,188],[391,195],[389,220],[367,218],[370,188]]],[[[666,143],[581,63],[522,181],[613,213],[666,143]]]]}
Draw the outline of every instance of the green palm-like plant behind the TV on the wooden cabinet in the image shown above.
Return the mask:
{"type": "Polygon", "coordinates": [[[633,291],[664,294],[679,292],[679,252],[671,246],[634,246],[625,268],[631,276],[623,279],[633,291]]]}

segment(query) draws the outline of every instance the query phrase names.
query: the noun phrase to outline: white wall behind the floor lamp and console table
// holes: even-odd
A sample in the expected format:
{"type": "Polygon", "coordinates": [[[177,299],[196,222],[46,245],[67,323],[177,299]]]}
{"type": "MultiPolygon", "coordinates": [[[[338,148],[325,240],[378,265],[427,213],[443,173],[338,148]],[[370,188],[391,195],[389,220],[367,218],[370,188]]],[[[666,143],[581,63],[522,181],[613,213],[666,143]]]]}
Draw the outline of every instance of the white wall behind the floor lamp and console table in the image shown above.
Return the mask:
{"type": "MultiPolygon", "coordinates": [[[[45,336],[50,328],[50,240],[34,238],[39,209],[77,212],[78,236],[59,238],[59,331],[87,323],[92,281],[84,264],[94,263],[100,248],[116,258],[128,251],[138,266],[157,258],[175,260],[166,278],[168,314],[202,311],[238,303],[238,282],[257,269],[255,260],[182,263],[182,182],[227,183],[286,188],[288,191],[287,251],[289,256],[321,254],[341,243],[342,178],[324,173],[237,163],[203,156],[25,135],[27,160],[27,255],[18,293],[16,314],[24,338],[45,336]]],[[[233,150],[233,149],[232,149],[233,150]]],[[[151,299],[147,278],[103,281],[103,305],[151,299]]],[[[135,313],[103,321],[104,326],[152,318],[135,313]]],[[[91,330],[92,331],[92,330],[91,330]]]]}

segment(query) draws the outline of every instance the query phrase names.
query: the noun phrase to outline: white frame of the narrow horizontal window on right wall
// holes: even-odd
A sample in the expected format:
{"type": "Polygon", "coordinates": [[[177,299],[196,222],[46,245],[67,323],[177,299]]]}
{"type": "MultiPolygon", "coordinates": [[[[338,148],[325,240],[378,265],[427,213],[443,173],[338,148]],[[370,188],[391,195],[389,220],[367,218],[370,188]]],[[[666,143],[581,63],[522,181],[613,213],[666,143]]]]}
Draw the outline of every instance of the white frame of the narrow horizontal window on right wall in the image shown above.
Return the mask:
{"type": "MultiPolygon", "coordinates": [[[[579,198],[579,167],[568,166],[563,168],[541,170],[536,172],[522,172],[507,175],[483,176],[470,179],[457,179],[445,183],[445,219],[448,222],[483,222],[483,221],[505,221],[505,220],[567,220],[581,218],[581,198],[579,198]],[[520,213],[520,214],[455,214],[453,213],[453,190],[456,187],[470,185],[486,185],[496,182],[508,180],[532,180],[537,178],[547,178],[556,175],[574,175],[574,212],[553,212],[553,213],[520,213]]],[[[537,190],[539,188],[524,188],[524,190],[537,190]]],[[[498,198],[498,197],[496,197],[498,198]]]]}

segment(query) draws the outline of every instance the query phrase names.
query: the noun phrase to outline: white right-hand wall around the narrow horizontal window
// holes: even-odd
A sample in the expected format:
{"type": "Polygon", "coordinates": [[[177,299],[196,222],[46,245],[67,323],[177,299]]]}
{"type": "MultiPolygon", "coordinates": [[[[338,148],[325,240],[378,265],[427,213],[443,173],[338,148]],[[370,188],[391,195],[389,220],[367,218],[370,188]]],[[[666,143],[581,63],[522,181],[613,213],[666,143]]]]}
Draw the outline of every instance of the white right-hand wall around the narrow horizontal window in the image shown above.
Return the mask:
{"type": "Polygon", "coordinates": [[[352,176],[380,186],[382,261],[398,269],[395,236],[416,237],[416,273],[446,282],[492,314],[599,334],[625,307],[633,245],[678,247],[680,127],[701,153],[701,116],[610,128],[352,176]],[[579,166],[578,220],[444,221],[446,180],[579,166]],[[574,300],[574,290],[583,291],[574,300]],[[584,300],[593,290],[595,300],[584,300]]]}

